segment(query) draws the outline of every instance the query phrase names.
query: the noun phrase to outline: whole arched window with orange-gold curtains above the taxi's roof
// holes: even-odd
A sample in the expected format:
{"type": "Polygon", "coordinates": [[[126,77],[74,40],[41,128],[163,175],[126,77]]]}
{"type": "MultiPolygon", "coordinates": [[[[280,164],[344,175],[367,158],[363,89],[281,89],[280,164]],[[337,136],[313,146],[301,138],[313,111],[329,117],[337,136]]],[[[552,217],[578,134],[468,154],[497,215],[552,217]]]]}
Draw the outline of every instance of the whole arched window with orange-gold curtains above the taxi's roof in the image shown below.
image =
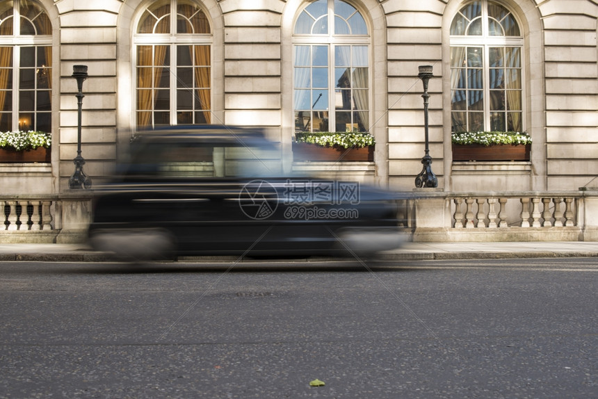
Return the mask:
{"type": "Polygon", "coordinates": [[[211,123],[209,21],[191,0],[156,1],[134,35],[138,128],[211,123]]]}

